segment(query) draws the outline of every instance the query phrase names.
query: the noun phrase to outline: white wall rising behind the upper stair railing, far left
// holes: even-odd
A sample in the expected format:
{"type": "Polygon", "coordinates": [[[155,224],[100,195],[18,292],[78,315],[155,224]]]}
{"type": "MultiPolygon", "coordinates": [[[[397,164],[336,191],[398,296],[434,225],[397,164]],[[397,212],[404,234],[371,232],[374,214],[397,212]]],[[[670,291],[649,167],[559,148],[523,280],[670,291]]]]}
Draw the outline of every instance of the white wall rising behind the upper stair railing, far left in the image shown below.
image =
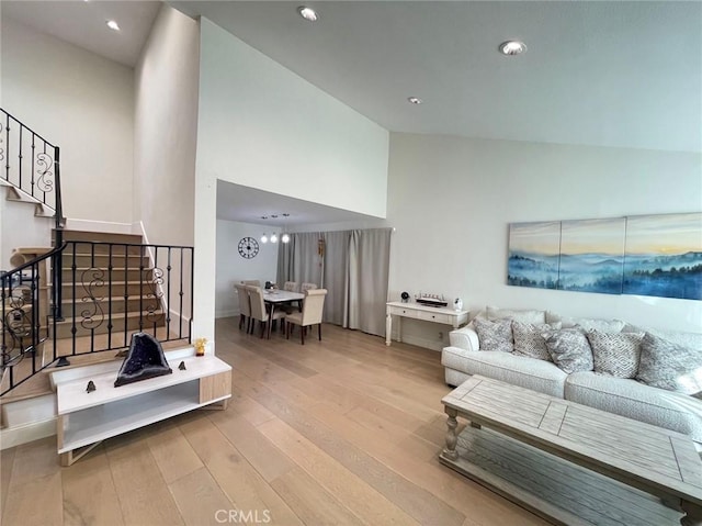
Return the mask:
{"type": "Polygon", "coordinates": [[[7,16],[1,38],[0,104],[60,146],[65,215],[131,223],[134,70],[7,16]]]}

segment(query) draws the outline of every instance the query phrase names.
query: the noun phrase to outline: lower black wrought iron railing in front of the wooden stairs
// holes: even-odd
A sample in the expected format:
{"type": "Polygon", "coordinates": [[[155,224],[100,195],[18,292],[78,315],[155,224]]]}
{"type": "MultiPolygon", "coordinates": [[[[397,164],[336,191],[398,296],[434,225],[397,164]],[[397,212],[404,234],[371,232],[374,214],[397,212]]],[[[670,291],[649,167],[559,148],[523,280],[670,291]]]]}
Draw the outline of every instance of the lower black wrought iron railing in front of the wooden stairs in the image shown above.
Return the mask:
{"type": "Polygon", "coordinates": [[[192,247],[73,240],[0,275],[0,395],[71,357],[128,347],[133,332],[190,344],[193,279],[192,247]],[[42,292],[56,288],[52,267],[61,318],[42,292]]]}

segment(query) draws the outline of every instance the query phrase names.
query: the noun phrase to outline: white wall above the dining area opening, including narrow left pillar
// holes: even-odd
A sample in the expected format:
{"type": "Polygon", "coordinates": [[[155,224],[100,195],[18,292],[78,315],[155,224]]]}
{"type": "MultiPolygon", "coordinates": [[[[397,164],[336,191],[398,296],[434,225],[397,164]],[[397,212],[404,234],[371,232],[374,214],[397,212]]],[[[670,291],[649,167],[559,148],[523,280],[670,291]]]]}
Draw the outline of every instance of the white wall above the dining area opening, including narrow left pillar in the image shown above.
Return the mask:
{"type": "Polygon", "coordinates": [[[388,133],[201,20],[195,332],[215,315],[216,180],[384,216],[388,133]]]}

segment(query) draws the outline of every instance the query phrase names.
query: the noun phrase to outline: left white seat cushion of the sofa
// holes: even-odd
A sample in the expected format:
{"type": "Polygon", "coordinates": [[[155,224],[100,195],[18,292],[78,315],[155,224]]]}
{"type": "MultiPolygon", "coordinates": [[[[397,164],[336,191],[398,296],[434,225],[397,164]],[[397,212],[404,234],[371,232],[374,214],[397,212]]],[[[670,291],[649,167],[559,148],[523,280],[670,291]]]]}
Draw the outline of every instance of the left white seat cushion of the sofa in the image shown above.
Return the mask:
{"type": "Polygon", "coordinates": [[[466,374],[482,374],[552,396],[563,398],[566,373],[550,361],[500,351],[444,347],[441,363],[466,374]]]}

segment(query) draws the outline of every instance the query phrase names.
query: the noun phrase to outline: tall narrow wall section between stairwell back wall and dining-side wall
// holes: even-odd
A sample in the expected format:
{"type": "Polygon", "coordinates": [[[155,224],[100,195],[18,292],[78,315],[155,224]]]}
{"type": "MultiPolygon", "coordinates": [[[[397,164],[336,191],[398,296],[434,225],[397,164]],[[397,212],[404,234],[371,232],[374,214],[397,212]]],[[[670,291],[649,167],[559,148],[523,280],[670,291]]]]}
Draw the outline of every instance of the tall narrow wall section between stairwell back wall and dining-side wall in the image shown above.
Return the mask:
{"type": "Polygon", "coordinates": [[[199,23],[163,4],[135,82],[133,199],[149,243],[194,243],[199,71],[199,23]]]}

